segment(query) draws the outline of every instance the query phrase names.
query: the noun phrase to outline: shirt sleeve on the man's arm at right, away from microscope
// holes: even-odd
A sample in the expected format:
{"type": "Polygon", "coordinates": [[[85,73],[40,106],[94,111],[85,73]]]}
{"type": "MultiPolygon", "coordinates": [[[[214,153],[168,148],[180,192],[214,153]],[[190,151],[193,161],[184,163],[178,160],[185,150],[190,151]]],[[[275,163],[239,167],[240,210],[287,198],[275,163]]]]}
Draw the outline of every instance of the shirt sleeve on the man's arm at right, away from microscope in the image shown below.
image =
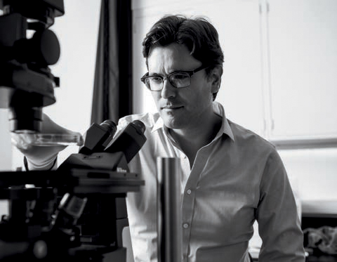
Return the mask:
{"type": "Polygon", "coordinates": [[[303,232],[284,164],[276,150],[265,164],[256,209],[263,241],[259,262],[304,262],[303,232]]]}

